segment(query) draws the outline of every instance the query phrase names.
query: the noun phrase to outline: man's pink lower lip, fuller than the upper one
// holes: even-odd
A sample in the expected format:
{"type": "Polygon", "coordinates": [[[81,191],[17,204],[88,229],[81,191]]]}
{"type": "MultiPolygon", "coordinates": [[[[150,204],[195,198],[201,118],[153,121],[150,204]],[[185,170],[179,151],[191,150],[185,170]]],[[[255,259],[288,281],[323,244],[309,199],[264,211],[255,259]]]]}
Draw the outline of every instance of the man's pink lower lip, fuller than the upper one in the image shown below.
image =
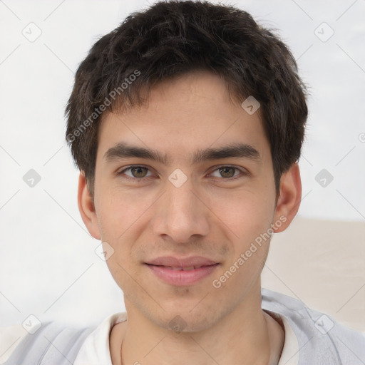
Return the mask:
{"type": "Polygon", "coordinates": [[[212,274],[212,272],[217,269],[218,265],[219,264],[213,264],[210,266],[200,267],[199,269],[185,271],[147,264],[147,266],[164,282],[177,286],[190,285],[195,284],[195,282],[199,282],[199,280],[202,280],[212,274]]]}

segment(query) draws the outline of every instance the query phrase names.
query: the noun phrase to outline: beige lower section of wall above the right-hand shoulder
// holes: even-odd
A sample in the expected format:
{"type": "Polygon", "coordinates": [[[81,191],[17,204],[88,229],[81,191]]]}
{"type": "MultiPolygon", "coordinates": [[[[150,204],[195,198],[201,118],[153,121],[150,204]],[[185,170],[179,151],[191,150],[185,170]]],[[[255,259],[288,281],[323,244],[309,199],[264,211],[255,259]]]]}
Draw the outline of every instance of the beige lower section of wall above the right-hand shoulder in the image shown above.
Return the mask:
{"type": "Polygon", "coordinates": [[[272,237],[262,287],[365,332],[365,222],[296,217],[272,237]]]}

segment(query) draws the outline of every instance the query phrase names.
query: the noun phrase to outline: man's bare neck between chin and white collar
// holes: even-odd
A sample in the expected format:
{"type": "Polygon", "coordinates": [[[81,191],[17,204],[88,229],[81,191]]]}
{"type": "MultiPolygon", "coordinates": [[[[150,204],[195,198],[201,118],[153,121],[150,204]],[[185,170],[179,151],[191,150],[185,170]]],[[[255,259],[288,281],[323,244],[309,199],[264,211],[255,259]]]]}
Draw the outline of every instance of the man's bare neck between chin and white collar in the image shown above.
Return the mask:
{"type": "Polygon", "coordinates": [[[282,328],[261,309],[260,289],[221,319],[208,318],[210,326],[200,330],[161,327],[127,298],[125,308],[128,321],[116,341],[121,355],[112,356],[115,365],[277,365],[284,343],[282,328]]]}

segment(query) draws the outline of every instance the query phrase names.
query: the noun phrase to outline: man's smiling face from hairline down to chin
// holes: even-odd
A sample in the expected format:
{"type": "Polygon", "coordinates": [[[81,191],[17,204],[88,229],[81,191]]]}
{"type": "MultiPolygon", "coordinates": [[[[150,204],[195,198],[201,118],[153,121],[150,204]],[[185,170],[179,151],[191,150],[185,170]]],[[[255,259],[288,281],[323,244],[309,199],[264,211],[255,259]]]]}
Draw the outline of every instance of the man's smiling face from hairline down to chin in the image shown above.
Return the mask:
{"type": "Polygon", "coordinates": [[[199,72],[100,127],[95,210],[83,218],[127,311],[198,331],[257,294],[272,225],[287,220],[259,111],[232,104],[220,78],[199,72]]]}

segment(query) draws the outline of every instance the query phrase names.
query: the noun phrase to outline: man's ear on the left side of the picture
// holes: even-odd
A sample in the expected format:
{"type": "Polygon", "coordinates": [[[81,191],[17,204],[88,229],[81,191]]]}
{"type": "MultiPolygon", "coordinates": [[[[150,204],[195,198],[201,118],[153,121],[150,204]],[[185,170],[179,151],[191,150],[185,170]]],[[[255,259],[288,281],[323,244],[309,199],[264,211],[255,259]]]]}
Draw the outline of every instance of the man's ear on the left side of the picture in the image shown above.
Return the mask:
{"type": "Polygon", "coordinates": [[[83,222],[88,229],[88,232],[96,238],[101,240],[98,217],[96,216],[93,197],[88,190],[88,184],[86,183],[85,174],[81,171],[78,178],[78,210],[80,210],[83,222]]]}

